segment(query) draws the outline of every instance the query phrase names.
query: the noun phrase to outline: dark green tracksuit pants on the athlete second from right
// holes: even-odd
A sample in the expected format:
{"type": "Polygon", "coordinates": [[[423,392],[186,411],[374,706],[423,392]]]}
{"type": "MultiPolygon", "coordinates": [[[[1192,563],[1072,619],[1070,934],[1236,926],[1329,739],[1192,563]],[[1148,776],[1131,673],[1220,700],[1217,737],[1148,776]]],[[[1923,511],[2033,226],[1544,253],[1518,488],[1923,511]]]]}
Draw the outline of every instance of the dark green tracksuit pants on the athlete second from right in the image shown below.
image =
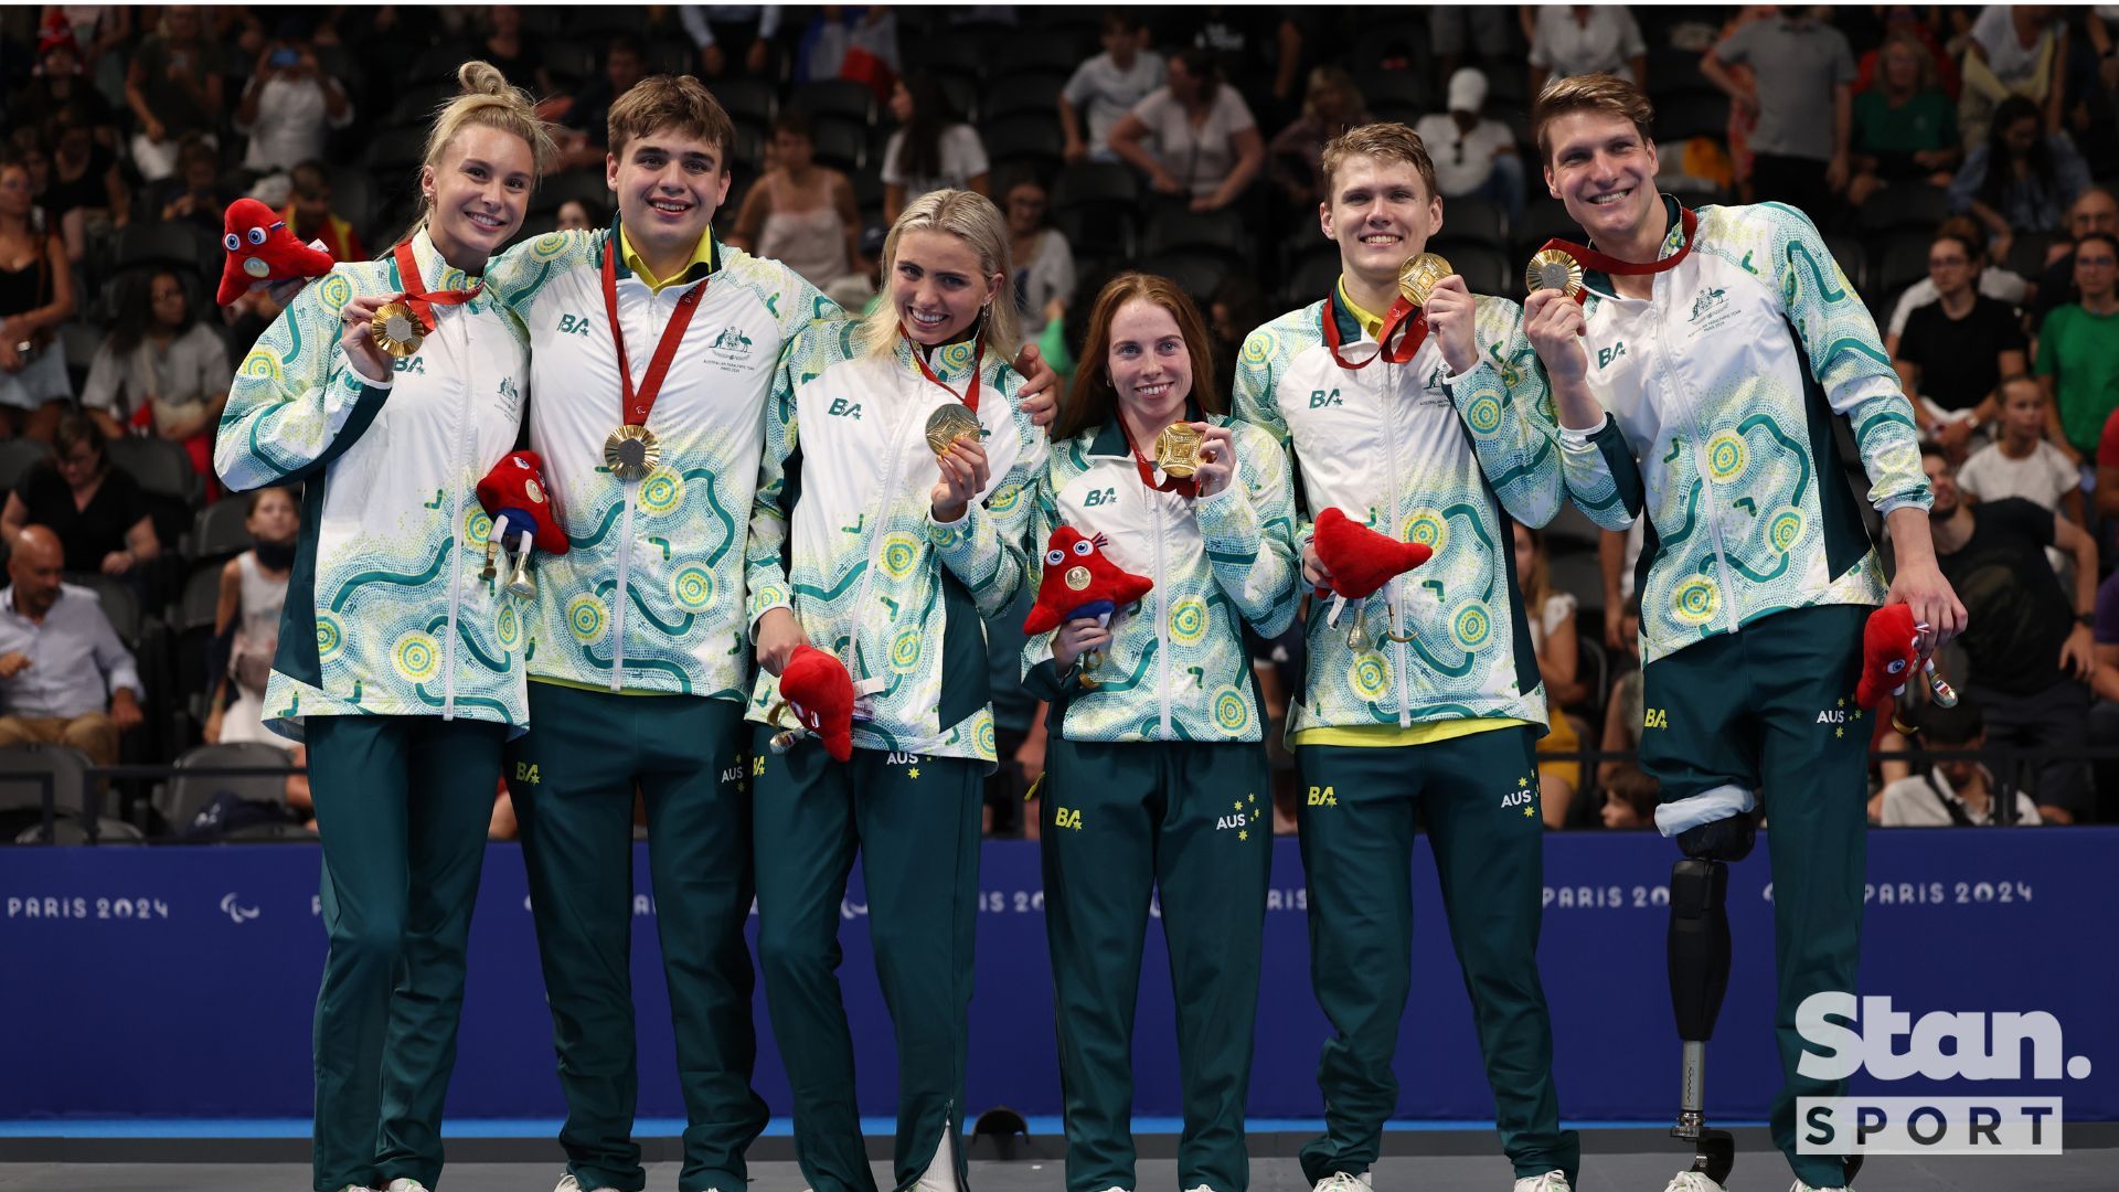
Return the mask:
{"type": "Polygon", "coordinates": [[[1538,982],[1545,823],[1530,728],[1399,749],[1299,744],[1310,980],[1333,1024],[1318,1060],[1324,1137],[1303,1175],[1360,1175],[1399,1103],[1390,1069],[1411,993],[1415,823],[1443,887],[1449,942],[1464,967],[1494,1120],[1517,1177],[1566,1171],[1581,1141],[1560,1128],[1553,1024],[1538,982]]]}

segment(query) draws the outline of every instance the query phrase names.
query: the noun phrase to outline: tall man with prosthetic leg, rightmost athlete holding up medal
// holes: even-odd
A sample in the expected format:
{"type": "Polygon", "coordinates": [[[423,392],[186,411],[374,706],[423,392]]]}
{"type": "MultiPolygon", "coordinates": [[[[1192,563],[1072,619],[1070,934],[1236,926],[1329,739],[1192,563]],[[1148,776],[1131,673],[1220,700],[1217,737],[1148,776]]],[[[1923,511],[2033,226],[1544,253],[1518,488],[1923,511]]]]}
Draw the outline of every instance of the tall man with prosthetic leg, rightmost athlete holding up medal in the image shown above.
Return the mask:
{"type": "MultiPolygon", "coordinates": [[[[1608,74],[1551,83],[1532,127],[1545,182],[1589,233],[1532,259],[1530,339],[1553,399],[1587,388],[1610,411],[1632,473],[1623,501],[1583,509],[1642,547],[1640,764],[1661,783],[1655,823],[1682,859],[1670,876],[1670,993],[1682,1041],[1676,1137],[1691,1169],[1668,1192],[1721,1192],[1735,1160],[1706,1120],[1706,1044],[1729,984],[1729,861],[1771,829],[1776,1041],[1784,1084],[1774,1145],[1795,1192],[1846,1190],[1852,1162],[1797,1147],[1797,1101],[1844,1082],[1799,1071],[1797,1007],[1854,993],[1867,867],[1869,723],[1854,698],[1863,626],[1909,604],[1933,649],[1964,626],[1935,564],[1911,405],[1803,212],[1782,204],[1687,210],[1655,193],[1653,112],[1608,74]],[[1557,312],[1557,314],[1555,314],[1557,312]],[[1560,320],[1572,333],[1551,335],[1560,320]],[[1839,481],[1846,420],[1892,534],[1882,562],[1839,481]]],[[[1615,458],[1619,456],[1619,458],[1615,458]]]]}

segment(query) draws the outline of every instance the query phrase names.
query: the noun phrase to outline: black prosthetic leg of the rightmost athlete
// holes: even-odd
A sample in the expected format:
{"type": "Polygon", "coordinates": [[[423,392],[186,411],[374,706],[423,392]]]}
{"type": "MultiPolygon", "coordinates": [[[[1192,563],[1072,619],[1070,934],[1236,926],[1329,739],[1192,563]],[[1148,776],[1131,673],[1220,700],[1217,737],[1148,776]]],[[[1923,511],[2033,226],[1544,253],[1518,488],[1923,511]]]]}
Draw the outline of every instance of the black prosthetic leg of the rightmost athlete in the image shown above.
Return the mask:
{"type": "Polygon", "coordinates": [[[1670,1010],[1685,1046],[1678,1124],[1670,1135],[1693,1145],[1693,1167],[1670,1186],[1699,1190],[1699,1175],[1723,1188],[1735,1167],[1735,1139],[1706,1124],[1706,1060],[1714,1018],[1729,993],[1729,865],[1750,855],[1757,825],[1735,814],[1678,834],[1685,857],[1670,867],[1670,1010]]]}

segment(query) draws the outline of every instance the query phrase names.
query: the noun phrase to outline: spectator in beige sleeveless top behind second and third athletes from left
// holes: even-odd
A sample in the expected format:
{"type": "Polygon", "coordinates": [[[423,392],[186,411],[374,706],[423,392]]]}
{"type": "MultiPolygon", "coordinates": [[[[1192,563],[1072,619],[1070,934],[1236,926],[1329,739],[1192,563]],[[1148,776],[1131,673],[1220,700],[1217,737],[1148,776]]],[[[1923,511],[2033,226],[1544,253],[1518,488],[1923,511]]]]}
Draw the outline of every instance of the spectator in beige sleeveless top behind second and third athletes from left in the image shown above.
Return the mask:
{"type": "Polygon", "coordinates": [[[860,259],[854,182],[814,155],[809,115],[782,108],[773,117],[773,168],[744,195],[729,244],[780,261],[822,291],[869,265],[860,259]]]}

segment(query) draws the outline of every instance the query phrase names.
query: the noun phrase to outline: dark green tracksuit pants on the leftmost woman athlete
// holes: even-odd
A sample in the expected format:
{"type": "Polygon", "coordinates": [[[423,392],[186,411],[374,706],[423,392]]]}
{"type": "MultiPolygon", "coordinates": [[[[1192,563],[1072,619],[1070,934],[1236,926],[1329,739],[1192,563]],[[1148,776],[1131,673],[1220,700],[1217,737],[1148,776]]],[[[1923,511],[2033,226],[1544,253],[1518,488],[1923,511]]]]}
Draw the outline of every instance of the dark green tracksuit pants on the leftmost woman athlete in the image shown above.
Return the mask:
{"type": "Polygon", "coordinates": [[[331,935],[316,991],[316,1188],[432,1188],[506,725],[309,717],[305,736],[331,935]]]}

